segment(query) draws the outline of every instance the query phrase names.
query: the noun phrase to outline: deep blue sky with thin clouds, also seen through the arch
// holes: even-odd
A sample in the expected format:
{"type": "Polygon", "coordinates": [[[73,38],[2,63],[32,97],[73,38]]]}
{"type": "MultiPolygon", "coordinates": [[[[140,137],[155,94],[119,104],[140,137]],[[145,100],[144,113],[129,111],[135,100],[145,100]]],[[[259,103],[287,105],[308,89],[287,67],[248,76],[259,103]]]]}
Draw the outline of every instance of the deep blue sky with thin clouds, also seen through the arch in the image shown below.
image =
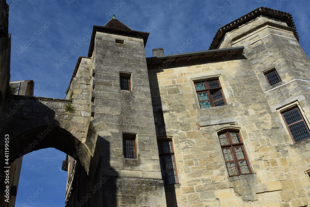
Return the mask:
{"type": "MultiPolygon", "coordinates": [[[[88,54],[93,25],[103,26],[113,13],[131,29],[150,33],[145,47],[146,57],[150,57],[152,49],[160,47],[165,55],[207,50],[219,23],[224,26],[258,7],[269,7],[293,15],[299,42],[310,54],[308,0],[7,0],[7,3],[11,5],[11,80],[34,80],[34,95],[39,97],[65,97],[78,56],[88,54]],[[223,7],[224,3],[227,7],[223,7]],[[217,10],[222,11],[212,19],[217,10]],[[181,49],[179,46],[188,38],[193,41],[181,49]],[[70,50],[74,51],[72,56],[68,55],[70,50]]],[[[66,172],[59,171],[64,159],[65,154],[55,149],[24,156],[16,206],[28,202],[29,193],[38,186],[47,190],[31,204],[28,202],[29,206],[43,206],[44,202],[44,206],[64,206],[66,172]],[[52,196],[55,193],[57,196],[52,196]]]]}

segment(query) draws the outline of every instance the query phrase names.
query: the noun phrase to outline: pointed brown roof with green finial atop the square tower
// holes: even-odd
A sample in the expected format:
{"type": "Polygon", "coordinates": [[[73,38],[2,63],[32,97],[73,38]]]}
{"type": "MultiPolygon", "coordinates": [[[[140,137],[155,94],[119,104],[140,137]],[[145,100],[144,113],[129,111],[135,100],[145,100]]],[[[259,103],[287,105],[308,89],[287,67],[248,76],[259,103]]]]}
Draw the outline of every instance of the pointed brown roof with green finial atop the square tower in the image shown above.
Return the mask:
{"type": "Polygon", "coordinates": [[[115,16],[113,15],[113,18],[110,19],[104,26],[96,26],[96,25],[93,26],[93,33],[91,34],[91,43],[89,45],[88,57],[91,57],[93,54],[95,45],[95,36],[97,31],[110,34],[119,34],[127,37],[143,38],[144,47],[146,45],[149,35],[148,32],[139,32],[130,29],[120,20],[116,19],[115,16]]]}

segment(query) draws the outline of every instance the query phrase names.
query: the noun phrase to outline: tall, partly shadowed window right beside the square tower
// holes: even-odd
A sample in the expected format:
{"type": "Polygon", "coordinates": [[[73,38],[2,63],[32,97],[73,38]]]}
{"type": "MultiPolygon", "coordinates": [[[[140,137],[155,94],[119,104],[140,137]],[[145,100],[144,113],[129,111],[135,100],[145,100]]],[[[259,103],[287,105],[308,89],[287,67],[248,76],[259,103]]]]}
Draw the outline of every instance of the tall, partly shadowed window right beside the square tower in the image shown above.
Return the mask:
{"type": "Polygon", "coordinates": [[[172,141],[157,141],[162,180],[165,185],[179,183],[172,141]]]}

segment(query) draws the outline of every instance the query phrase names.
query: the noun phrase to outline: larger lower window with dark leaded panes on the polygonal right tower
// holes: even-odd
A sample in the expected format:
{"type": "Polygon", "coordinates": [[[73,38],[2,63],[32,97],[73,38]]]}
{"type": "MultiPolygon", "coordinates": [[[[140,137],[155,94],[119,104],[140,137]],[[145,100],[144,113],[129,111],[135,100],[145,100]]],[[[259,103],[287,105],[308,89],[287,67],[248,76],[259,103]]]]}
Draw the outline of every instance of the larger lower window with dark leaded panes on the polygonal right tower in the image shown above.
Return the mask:
{"type": "Polygon", "coordinates": [[[281,113],[294,143],[310,138],[309,128],[298,106],[281,113]]]}

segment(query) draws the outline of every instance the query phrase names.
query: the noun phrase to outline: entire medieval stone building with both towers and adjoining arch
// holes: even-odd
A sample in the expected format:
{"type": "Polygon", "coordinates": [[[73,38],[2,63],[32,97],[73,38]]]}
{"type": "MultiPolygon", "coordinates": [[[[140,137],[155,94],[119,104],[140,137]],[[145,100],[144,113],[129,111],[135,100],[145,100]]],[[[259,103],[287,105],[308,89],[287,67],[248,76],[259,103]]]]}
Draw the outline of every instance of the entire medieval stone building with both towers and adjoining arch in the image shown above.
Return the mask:
{"type": "Polygon", "coordinates": [[[146,58],[147,39],[113,17],[93,27],[66,100],[9,96],[1,132],[24,124],[14,158],[29,143],[67,153],[68,207],[308,206],[310,61],[292,16],[260,7],[206,51],[146,58]],[[20,100],[42,119],[5,119],[20,100]]]}

